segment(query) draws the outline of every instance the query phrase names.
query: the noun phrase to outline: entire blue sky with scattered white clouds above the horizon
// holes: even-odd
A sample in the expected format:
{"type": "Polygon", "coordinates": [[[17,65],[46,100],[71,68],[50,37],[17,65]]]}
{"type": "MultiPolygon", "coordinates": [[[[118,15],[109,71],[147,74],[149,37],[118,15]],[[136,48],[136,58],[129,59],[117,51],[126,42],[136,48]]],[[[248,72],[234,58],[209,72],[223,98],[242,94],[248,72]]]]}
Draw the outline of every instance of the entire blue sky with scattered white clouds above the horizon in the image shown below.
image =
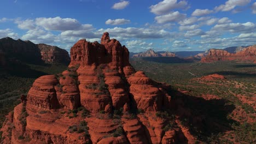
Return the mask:
{"type": "Polygon", "coordinates": [[[109,32],[130,52],[205,51],[256,44],[256,1],[2,0],[0,38],[69,51],[109,32]]]}

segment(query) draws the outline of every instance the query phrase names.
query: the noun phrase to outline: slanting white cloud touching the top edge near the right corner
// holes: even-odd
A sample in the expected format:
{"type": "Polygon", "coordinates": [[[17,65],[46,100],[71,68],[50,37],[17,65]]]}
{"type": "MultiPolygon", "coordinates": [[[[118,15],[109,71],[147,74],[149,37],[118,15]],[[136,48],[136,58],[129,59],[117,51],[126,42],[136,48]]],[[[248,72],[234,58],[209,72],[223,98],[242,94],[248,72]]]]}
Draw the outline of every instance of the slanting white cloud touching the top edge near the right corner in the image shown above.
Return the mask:
{"type": "Polygon", "coordinates": [[[251,0],[228,0],[225,4],[221,4],[218,7],[215,7],[216,11],[230,11],[237,6],[244,6],[250,3],[251,0]]]}

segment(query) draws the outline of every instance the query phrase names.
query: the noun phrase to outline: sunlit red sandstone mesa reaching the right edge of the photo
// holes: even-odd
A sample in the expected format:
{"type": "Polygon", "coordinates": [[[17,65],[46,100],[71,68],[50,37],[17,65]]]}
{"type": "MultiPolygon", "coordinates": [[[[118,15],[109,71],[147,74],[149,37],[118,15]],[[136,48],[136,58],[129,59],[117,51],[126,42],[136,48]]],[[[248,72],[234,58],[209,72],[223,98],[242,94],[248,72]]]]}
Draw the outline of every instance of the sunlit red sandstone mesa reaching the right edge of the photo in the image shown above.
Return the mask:
{"type": "Polygon", "coordinates": [[[211,63],[217,61],[236,61],[256,63],[256,45],[248,46],[236,53],[229,53],[225,50],[211,49],[208,55],[202,57],[201,62],[211,63]]]}

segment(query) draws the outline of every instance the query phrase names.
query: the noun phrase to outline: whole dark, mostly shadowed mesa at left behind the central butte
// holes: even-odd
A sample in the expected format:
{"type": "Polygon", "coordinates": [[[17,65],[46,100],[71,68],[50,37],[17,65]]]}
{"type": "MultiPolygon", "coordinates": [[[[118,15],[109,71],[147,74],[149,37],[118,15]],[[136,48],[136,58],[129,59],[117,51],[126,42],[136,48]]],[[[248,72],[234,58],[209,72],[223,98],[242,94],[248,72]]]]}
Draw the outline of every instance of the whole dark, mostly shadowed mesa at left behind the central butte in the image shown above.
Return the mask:
{"type": "Polygon", "coordinates": [[[34,44],[29,40],[14,40],[9,37],[0,39],[0,56],[0,65],[20,62],[32,64],[70,62],[68,52],[57,46],[34,44]]]}

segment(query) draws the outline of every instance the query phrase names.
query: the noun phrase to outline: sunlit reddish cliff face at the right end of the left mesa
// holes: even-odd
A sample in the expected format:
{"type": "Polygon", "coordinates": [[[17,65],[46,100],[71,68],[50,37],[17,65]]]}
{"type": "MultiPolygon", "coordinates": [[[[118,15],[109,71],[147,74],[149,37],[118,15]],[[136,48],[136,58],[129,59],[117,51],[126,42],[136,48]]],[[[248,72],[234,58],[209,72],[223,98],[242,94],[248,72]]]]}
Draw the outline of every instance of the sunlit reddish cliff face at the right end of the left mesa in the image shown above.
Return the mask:
{"type": "Polygon", "coordinates": [[[66,50],[60,49],[57,46],[50,46],[46,44],[37,44],[37,46],[40,49],[44,62],[69,64],[70,58],[66,50]]]}

